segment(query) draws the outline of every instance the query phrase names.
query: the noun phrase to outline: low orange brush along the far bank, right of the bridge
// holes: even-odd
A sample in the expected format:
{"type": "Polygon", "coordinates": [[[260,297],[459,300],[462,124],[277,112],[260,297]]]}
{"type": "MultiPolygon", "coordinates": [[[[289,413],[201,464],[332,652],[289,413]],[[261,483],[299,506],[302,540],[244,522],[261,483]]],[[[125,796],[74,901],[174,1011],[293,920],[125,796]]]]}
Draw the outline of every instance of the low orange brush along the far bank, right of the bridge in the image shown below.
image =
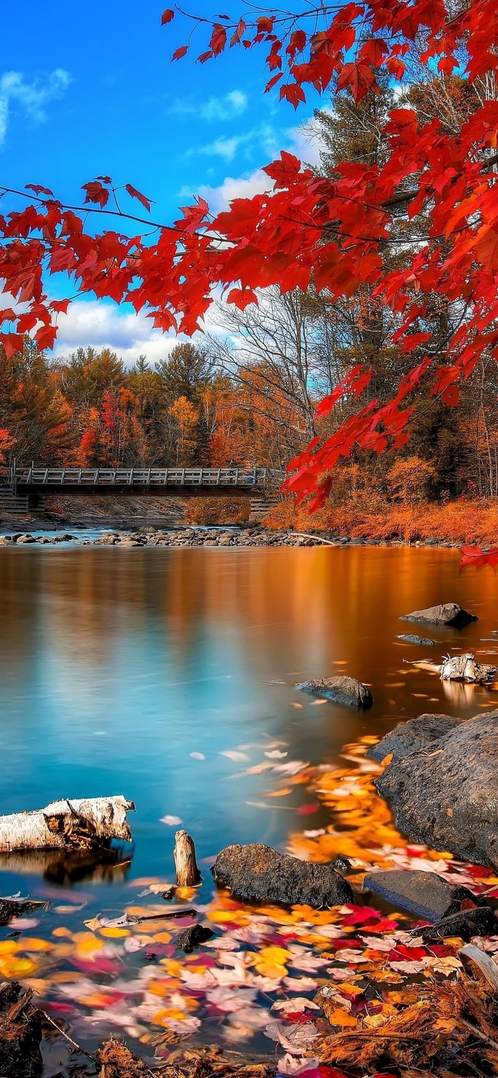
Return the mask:
{"type": "Polygon", "coordinates": [[[417,502],[391,506],[375,511],[359,505],[333,506],[308,513],[306,505],[296,507],[291,499],[281,501],[265,516],[268,528],[294,528],[296,531],[329,531],[337,537],[363,539],[438,539],[440,542],[498,544],[498,503],[496,500],[417,502]]]}

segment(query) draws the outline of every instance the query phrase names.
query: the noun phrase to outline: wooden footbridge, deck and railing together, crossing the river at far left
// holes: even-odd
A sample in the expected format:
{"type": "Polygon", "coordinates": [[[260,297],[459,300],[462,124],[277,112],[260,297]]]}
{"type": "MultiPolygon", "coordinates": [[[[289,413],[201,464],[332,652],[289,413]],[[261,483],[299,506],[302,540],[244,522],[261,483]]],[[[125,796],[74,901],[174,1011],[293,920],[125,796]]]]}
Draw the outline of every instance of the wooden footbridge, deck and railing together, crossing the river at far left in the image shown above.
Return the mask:
{"type": "MultiPolygon", "coordinates": [[[[273,474],[273,473],[272,473],[273,474]]],[[[207,495],[263,494],[266,468],[12,468],[8,484],[16,495],[207,495]]]]}

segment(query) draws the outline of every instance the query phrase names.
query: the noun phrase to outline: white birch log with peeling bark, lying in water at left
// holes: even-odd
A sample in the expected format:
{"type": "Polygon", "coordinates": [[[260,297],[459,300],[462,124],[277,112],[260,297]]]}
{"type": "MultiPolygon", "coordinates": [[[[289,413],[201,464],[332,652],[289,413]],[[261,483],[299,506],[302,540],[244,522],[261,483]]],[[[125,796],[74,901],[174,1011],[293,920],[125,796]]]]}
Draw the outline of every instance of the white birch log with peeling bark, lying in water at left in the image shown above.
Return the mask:
{"type": "Polygon", "coordinates": [[[11,849],[89,849],[111,839],[132,842],[126,819],[133,801],[119,796],[83,801],[53,801],[36,812],[0,816],[0,852],[11,849]]]}

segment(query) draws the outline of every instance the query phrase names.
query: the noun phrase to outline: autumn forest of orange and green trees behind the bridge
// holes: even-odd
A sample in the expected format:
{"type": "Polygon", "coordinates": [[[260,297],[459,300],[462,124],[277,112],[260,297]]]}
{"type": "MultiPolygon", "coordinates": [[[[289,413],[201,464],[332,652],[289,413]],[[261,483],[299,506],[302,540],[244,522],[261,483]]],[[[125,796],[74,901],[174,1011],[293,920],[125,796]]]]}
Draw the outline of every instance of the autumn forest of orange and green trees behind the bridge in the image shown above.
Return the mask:
{"type": "MultiPolygon", "coordinates": [[[[320,148],[317,175],[333,179],[344,161],[387,160],[384,127],[396,101],[382,72],[379,84],[381,93],[359,101],[346,89],[333,112],[315,113],[306,134],[320,148]]],[[[420,122],[438,116],[448,135],[480,107],[478,91],[456,77],[415,82],[403,101],[420,122]]],[[[386,272],[407,264],[429,224],[424,211],[407,219],[400,204],[383,246],[386,272]]],[[[454,304],[431,295],[420,355],[427,338],[434,355],[443,349],[457,317],[454,304]]],[[[413,365],[413,353],[397,343],[399,319],[368,284],[333,302],[313,285],[283,295],[273,286],[258,306],[219,303],[211,321],[216,332],[176,344],[154,365],[137,356],[130,369],[109,348],[53,359],[27,335],[23,351],[9,358],[0,346],[4,461],[285,471],[312,439],[327,439],[354,414],[356,396],[328,414],[318,406],[351,371],[371,370],[362,399],[386,403],[413,365]]],[[[352,451],[334,470],[331,505],[366,496],[379,505],[496,498],[497,397],[496,361],[485,351],[455,400],[415,392],[407,444],[382,454],[352,451]]]]}

